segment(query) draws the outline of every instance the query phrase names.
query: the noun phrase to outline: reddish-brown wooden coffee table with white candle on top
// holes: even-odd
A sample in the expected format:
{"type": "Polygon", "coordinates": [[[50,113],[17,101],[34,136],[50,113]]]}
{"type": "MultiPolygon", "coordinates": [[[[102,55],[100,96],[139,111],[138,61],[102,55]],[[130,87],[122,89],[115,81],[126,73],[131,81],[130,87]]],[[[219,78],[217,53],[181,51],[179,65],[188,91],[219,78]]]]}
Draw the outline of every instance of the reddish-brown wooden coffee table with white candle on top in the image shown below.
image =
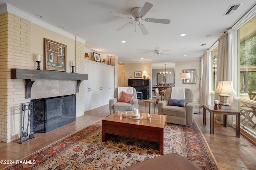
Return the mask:
{"type": "Polygon", "coordinates": [[[118,111],[102,119],[102,142],[113,135],[134,137],[159,143],[160,154],[164,154],[164,127],[167,125],[166,115],[152,115],[147,120],[146,113],[141,120],[130,119],[132,112],[128,111],[126,117],[122,117],[124,111],[118,111]]]}

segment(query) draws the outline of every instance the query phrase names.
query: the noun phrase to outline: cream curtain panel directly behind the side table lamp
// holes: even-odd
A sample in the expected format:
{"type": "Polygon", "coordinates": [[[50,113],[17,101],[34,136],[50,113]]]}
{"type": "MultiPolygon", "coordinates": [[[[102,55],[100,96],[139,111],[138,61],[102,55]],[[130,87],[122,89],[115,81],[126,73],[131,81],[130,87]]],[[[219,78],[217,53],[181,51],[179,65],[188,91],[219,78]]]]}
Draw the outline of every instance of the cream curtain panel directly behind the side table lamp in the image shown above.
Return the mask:
{"type": "MultiPolygon", "coordinates": [[[[219,39],[218,45],[218,63],[217,63],[217,84],[218,81],[232,81],[233,80],[233,50],[232,50],[232,33],[231,29],[228,29],[219,39]]],[[[215,87],[216,88],[216,87],[215,87]]],[[[232,96],[230,96],[230,99],[232,96]]],[[[219,100],[219,94],[215,94],[215,100],[219,100]]],[[[232,100],[229,101],[232,104],[232,100]]],[[[215,121],[223,124],[223,115],[216,115],[215,121]]],[[[228,123],[230,121],[228,120],[228,123]]]]}

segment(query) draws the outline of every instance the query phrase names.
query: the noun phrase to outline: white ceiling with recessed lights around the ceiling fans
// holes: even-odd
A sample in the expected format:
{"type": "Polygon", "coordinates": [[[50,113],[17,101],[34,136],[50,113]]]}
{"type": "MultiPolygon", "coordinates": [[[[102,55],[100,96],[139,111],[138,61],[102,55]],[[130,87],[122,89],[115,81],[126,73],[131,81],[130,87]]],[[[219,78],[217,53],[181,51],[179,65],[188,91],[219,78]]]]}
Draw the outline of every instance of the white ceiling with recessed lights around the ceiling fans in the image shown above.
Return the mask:
{"type": "Polygon", "coordinates": [[[79,34],[86,40],[86,48],[103,57],[117,56],[118,62],[124,63],[161,63],[200,59],[256,0],[0,0],[0,5],[3,3],[33,16],[43,16],[40,20],[79,34]],[[144,19],[169,19],[170,24],[144,22],[148,35],[142,34],[138,24],[115,30],[133,20],[108,13],[131,16],[131,10],[145,2],[153,7],[144,19]],[[236,12],[223,15],[230,5],[239,3],[243,4],[236,12]],[[186,36],[181,37],[182,33],[186,36]],[[121,43],[123,40],[126,43],[121,43]],[[204,43],[206,46],[200,47],[204,43]],[[153,56],[150,51],[157,49],[166,50],[165,55],[153,56]]]}

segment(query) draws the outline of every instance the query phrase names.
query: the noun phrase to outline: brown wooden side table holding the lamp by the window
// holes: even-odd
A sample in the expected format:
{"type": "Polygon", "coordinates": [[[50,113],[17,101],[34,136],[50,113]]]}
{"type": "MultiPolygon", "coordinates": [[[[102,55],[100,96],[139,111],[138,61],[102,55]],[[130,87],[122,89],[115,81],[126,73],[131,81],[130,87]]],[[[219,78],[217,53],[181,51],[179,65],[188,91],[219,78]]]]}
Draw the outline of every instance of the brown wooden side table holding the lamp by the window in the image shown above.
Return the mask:
{"type": "Polygon", "coordinates": [[[240,111],[236,111],[234,109],[225,110],[219,109],[214,110],[213,105],[204,105],[204,113],[203,113],[203,124],[206,125],[206,110],[210,112],[210,134],[214,134],[214,113],[223,114],[223,125],[227,127],[227,115],[236,115],[236,137],[240,137],[240,111]]]}

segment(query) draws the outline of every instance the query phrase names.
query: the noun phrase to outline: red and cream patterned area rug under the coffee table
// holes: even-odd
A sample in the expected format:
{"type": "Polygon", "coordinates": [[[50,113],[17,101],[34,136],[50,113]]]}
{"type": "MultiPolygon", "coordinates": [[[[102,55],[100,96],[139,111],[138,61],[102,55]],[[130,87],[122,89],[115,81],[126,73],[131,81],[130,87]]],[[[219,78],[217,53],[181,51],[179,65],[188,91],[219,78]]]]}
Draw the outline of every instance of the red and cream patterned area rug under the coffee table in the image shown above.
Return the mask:
{"type": "MultiPolygon", "coordinates": [[[[216,161],[198,130],[169,124],[164,129],[164,154],[178,153],[204,170],[217,170],[216,161]]],[[[159,154],[155,142],[113,135],[102,142],[102,121],[34,153],[12,170],[120,170],[159,154]],[[27,164],[26,164],[27,163],[27,164]],[[35,163],[35,164],[34,164],[35,163]]]]}

